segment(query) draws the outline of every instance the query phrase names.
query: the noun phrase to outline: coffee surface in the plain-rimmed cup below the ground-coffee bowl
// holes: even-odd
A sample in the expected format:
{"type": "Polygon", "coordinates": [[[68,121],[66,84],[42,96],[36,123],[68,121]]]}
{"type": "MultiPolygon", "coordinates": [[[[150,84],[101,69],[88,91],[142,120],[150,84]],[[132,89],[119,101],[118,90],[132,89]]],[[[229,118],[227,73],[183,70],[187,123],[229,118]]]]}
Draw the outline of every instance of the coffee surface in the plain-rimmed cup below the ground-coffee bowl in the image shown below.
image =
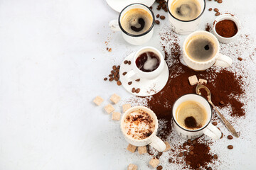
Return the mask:
{"type": "Polygon", "coordinates": [[[196,62],[207,62],[215,57],[217,45],[207,35],[194,35],[186,43],[185,50],[188,57],[196,62]]]}

